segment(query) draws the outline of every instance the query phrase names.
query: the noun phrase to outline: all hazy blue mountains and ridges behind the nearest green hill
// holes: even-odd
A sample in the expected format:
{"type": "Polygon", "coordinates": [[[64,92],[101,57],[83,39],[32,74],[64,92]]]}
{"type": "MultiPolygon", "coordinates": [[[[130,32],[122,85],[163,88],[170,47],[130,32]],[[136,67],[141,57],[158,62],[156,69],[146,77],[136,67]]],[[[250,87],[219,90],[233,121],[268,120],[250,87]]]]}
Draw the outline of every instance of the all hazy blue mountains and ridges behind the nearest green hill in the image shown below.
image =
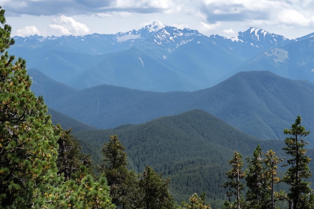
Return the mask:
{"type": "Polygon", "coordinates": [[[250,28],[227,39],[154,22],[113,35],[14,39],[10,53],[27,60],[33,91],[97,128],[193,109],[261,139],[285,137],[297,115],[314,127],[314,34],[289,40],[250,28]]]}

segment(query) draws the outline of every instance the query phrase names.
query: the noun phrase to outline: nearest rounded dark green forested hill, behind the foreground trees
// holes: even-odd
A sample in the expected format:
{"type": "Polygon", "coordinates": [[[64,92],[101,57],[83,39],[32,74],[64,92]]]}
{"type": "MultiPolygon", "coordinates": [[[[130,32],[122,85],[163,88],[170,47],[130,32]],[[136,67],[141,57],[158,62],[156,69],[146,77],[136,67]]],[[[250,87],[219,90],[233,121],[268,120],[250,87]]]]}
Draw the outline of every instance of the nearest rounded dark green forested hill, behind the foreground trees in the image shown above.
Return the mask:
{"type": "MultiPolygon", "coordinates": [[[[145,165],[170,177],[170,190],[177,201],[202,191],[211,202],[225,198],[228,161],[234,150],[250,156],[260,144],[263,150],[273,149],[283,155],[283,141],[259,140],[201,110],[163,117],[139,125],[114,129],[80,131],[74,135],[85,144],[101,147],[109,135],[117,134],[126,147],[129,168],[140,172],[145,165]]],[[[83,147],[88,151],[88,147],[83,147]]],[[[100,163],[100,149],[93,153],[100,163]]]]}

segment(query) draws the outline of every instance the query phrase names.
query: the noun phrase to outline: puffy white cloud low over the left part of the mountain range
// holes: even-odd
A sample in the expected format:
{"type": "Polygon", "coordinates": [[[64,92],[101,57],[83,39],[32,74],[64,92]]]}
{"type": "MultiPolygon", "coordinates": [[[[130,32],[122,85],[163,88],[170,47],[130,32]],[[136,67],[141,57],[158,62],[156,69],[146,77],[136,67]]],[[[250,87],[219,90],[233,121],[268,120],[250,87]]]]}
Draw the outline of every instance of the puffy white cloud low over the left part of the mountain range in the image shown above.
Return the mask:
{"type": "Polygon", "coordinates": [[[86,35],[89,33],[89,28],[82,23],[76,22],[71,17],[64,15],[53,20],[56,24],[50,24],[49,27],[56,32],[57,36],[62,35],[86,35]]]}

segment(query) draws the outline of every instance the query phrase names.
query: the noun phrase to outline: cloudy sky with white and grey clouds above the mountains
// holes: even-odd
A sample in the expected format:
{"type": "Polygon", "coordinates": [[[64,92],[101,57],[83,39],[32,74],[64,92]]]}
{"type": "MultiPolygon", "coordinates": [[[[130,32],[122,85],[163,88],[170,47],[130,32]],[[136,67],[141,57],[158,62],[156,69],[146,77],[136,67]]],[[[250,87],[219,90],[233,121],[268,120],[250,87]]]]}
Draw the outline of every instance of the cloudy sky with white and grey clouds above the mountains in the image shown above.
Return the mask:
{"type": "Polygon", "coordinates": [[[159,20],[204,35],[249,27],[294,39],[314,32],[312,0],[0,0],[13,36],[115,34],[159,20]]]}

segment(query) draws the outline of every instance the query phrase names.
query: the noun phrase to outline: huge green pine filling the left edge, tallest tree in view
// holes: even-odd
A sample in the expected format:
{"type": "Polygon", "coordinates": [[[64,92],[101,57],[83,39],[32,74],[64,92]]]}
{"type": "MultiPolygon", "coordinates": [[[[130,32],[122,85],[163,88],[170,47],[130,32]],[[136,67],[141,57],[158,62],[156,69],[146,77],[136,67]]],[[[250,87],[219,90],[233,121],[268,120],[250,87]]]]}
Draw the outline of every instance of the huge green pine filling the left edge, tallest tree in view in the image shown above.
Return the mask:
{"type": "MultiPolygon", "coordinates": [[[[1,9],[1,7],[0,7],[1,9]]],[[[42,97],[30,90],[26,61],[6,51],[14,40],[0,10],[0,205],[31,208],[56,175],[57,136],[42,97]]]]}

